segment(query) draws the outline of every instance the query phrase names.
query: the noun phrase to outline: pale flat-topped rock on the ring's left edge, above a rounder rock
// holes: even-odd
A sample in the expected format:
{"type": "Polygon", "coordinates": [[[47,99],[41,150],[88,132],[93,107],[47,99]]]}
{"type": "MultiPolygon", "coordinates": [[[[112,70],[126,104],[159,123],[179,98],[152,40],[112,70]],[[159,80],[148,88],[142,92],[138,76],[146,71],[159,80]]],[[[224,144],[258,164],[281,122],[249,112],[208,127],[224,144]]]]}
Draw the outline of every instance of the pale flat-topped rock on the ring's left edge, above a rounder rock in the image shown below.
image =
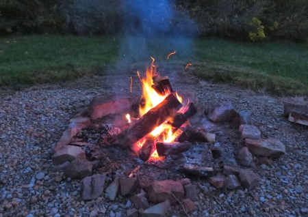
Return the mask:
{"type": "Polygon", "coordinates": [[[75,159],[86,160],[86,154],[80,147],[65,145],[53,155],[53,164],[62,164],[66,161],[72,162],[75,159]]]}

